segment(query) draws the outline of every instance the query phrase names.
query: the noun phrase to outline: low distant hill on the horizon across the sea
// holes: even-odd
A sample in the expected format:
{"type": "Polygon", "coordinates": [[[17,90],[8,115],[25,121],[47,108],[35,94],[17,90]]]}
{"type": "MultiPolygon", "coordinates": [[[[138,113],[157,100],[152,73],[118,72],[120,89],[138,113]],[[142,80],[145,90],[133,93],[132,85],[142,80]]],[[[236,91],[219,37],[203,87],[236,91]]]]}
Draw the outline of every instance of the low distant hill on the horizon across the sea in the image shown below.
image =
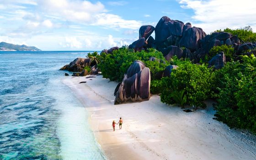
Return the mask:
{"type": "Polygon", "coordinates": [[[40,49],[32,46],[17,45],[11,43],[0,43],[0,51],[41,51],[40,49]]]}

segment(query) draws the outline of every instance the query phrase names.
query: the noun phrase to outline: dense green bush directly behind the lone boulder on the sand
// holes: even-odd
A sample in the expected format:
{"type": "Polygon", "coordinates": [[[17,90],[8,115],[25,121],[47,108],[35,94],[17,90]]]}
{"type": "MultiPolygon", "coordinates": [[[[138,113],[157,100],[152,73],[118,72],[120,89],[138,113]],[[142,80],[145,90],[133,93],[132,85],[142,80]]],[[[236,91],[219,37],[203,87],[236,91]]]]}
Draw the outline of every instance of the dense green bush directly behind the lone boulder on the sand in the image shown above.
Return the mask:
{"type": "Polygon", "coordinates": [[[98,67],[101,69],[104,78],[122,81],[123,75],[126,73],[133,61],[141,60],[147,67],[149,67],[150,71],[152,71],[152,80],[159,79],[157,78],[158,71],[164,70],[167,64],[159,63],[158,61],[147,62],[150,57],[155,57],[161,61],[165,61],[163,54],[155,49],[149,49],[148,52],[141,51],[134,53],[127,48],[120,48],[113,51],[112,54],[107,54],[98,67]]]}

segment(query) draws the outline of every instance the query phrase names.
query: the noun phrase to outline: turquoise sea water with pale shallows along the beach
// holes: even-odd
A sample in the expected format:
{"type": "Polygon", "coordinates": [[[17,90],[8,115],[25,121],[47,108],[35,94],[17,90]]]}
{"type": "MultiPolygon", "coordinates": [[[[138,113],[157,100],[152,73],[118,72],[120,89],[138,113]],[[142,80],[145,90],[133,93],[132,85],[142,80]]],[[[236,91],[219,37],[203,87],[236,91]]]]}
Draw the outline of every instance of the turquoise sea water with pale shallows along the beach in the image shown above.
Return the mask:
{"type": "Polygon", "coordinates": [[[103,160],[59,68],[88,52],[0,52],[0,160],[103,160]]]}

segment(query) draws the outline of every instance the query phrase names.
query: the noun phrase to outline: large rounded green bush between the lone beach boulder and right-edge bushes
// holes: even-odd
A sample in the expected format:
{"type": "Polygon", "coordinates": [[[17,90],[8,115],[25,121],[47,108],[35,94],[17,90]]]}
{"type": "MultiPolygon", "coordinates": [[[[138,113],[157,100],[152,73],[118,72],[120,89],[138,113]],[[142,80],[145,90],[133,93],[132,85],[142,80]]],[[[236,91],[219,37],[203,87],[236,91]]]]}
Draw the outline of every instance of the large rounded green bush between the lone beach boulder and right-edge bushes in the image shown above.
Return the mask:
{"type": "Polygon", "coordinates": [[[161,101],[176,104],[179,102],[175,97],[181,97],[179,99],[184,99],[189,105],[206,107],[203,101],[210,97],[214,81],[211,70],[204,65],[192,64],[188,60],[181,61],[178,66],[172,70],[171,77],[162,78],[161,101]]]}

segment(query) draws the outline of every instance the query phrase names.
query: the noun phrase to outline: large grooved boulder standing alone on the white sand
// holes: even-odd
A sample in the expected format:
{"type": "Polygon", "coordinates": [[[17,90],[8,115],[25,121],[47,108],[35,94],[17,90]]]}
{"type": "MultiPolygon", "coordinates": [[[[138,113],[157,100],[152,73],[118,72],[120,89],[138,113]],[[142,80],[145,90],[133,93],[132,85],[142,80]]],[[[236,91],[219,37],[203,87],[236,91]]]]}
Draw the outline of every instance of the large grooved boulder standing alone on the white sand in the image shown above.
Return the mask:
{"type": "Polygon", "coordinates": [[[134,61],[124,75],[123,81],[117,85],[114,95],[115,104],[149,100],[149,68],[139,60],[134,61]]]}

